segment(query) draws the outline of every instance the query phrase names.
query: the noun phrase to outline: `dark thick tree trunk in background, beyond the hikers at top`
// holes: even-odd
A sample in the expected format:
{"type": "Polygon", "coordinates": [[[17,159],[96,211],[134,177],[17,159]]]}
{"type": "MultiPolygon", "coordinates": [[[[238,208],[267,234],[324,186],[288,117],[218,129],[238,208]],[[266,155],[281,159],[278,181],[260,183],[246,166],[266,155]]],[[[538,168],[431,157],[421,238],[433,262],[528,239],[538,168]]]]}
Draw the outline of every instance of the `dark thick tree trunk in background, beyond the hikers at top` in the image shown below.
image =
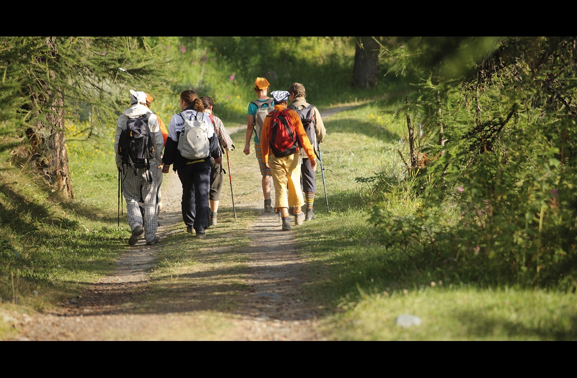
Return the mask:
{"type": "Polygon", "coordinates": [[[379,83],[379,43],[373,37],[357,37],[354,87],[375,87],[379,83]]]}

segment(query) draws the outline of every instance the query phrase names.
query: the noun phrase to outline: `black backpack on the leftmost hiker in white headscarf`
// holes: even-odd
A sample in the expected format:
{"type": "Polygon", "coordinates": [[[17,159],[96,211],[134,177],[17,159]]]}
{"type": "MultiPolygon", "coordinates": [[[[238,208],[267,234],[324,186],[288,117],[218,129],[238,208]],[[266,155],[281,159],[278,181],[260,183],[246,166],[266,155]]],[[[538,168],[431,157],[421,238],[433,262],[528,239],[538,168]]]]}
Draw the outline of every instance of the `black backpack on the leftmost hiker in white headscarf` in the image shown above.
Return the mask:
{"type": "Polygon", "coordinates": [[[152,114],[129,118],[118,139],[118,155],[122,158],[122,164],[132,167],[134,175],[137,169],[149,170],[150,160],[156,156],[154,136],[148,127],[152,114]]]}

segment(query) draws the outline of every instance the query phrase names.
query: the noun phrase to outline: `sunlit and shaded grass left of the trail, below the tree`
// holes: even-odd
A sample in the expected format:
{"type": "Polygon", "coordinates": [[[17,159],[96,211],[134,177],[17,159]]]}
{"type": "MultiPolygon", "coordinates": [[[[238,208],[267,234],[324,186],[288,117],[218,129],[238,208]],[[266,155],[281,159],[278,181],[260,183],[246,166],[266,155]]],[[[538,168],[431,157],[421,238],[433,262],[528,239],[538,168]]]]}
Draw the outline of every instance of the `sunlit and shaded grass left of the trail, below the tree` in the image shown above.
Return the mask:
{"type": "MultiPolygon", "coordinates": [[[[76,201],[60,203],[46,183],[2,156],[0,297],[50,309],[110,274],[125,248],[117,227],[117,179],[108,138],[69,144],[76,201]]],[[[126,227],[126,229],[125,229],[126,227]]]]}

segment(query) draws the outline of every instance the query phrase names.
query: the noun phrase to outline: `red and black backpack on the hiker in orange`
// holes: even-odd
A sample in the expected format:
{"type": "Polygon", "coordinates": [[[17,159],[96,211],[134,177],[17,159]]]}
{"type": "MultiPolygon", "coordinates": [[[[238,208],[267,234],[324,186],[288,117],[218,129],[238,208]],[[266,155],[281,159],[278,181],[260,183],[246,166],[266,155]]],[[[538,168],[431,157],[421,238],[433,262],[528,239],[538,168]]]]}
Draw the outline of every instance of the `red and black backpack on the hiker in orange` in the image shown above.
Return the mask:
{"type": "Polygon", "coordinates": [[[267,117],[271,117],[268,145],[272,154],[277,158],[294,154],[297,151],[298,137],[288,109],[275,111],[267,117]]]}

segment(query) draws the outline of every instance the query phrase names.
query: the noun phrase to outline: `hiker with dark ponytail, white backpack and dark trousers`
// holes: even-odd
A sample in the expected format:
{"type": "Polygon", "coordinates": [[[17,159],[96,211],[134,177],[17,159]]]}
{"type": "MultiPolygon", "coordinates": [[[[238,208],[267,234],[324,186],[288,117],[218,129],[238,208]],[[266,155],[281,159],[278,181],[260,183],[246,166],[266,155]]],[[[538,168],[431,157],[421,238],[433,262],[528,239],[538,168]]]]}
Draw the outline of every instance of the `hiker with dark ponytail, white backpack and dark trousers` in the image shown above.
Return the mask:
{"type": "Polygon", "coordinates": [[[168,124],[162,173],[168,173],[174,164],[182,183],[182,219],[186,231],[192,234],[194,230],[197,238],[204,238],[209,220],[211,157],[222,164],[222,154],[214,126],[196,92],[183,91],[179,104],[181,113],[173,115],[168,124]]]}

